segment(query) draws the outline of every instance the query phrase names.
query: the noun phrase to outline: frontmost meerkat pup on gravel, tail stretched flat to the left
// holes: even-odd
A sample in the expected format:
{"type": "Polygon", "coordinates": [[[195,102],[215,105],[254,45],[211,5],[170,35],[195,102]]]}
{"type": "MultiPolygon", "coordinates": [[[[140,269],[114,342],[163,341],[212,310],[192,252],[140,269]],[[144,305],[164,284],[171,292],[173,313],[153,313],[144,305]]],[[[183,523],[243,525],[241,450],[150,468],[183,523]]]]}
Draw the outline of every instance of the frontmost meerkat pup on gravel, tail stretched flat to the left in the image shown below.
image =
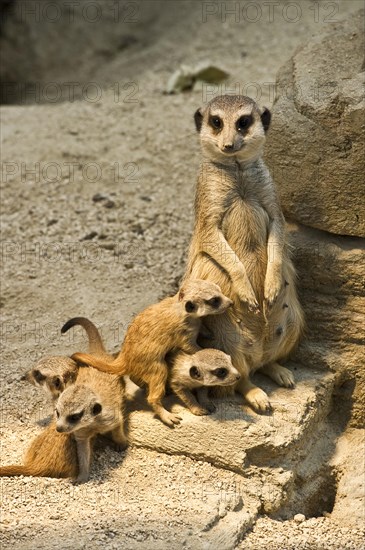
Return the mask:
{"type": "Polygon", "coordinates": [[[58,399],[56,420],[35,438],[24,464],[3,466],[0,476],[72,477],[77,483],[87,481],[96,435],[111,436],[119,449],[127,445],[123,388],[118,376],[81,367],[76,383],[58,399]]]}

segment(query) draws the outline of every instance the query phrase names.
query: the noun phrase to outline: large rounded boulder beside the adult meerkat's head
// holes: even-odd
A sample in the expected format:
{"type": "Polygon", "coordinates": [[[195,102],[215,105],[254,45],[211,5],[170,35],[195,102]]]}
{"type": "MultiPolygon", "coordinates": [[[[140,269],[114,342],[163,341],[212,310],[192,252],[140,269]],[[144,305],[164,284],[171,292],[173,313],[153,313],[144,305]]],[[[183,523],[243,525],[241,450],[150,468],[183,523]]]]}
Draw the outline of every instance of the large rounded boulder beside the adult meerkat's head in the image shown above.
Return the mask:
{"type": "Polygon", "coordinates": [[[364,78],[363,10],[279,71],[266,157],[288,218],[365,236],[364,78]]]}

